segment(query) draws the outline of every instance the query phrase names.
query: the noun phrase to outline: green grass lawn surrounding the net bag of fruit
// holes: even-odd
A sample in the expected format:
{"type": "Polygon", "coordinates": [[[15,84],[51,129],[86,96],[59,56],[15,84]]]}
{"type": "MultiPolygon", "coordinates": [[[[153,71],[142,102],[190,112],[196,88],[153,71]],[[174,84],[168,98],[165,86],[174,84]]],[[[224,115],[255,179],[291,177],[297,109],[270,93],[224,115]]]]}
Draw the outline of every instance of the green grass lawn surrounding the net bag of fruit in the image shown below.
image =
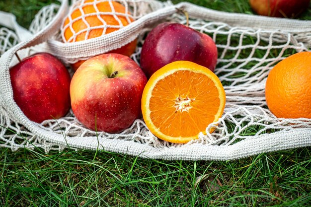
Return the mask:
{"type": "MultiPolygon", "coordinates": [[[[51,2],[2,0],[0,10],[28,28],[51,2]]],[[[252,13],[247,0],[190,2],[252,13]]],[[[311,9],[300,18],[311,19],[311,9]]],[[[105,151],[0,148],[0,207],[310,207],[310,152],[306,147],[235,161],[163,161],[105,151]],[[206,179],[196,185],[200,176],[206,179]]]]}

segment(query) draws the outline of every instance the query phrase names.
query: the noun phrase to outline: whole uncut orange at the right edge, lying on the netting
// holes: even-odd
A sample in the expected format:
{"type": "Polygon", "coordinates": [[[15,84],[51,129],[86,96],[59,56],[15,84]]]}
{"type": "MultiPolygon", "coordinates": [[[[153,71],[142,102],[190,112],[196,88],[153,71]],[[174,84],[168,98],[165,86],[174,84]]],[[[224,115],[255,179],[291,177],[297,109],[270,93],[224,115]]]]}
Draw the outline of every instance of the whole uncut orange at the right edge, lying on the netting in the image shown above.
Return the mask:
{"type": "Polygon", "coordinates": [[[266,101],[278,118],[311,119],[311,52],[292,55],[270,71],[266,101]]]}

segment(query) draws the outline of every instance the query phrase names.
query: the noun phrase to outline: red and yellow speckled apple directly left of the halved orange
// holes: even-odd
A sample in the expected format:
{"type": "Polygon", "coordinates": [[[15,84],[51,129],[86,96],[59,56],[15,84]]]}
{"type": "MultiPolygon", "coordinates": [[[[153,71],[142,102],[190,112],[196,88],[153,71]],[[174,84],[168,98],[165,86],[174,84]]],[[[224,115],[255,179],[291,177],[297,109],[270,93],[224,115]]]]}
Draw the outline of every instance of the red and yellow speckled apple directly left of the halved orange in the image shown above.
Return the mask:
{"type": "Polygon", "coordinates": [[[141,116],[147,83],[142,69],[129,57],[103,54],[85,61],[75,72],[70,95],[81,124],[93,131],[119,133],[141,116]]]}

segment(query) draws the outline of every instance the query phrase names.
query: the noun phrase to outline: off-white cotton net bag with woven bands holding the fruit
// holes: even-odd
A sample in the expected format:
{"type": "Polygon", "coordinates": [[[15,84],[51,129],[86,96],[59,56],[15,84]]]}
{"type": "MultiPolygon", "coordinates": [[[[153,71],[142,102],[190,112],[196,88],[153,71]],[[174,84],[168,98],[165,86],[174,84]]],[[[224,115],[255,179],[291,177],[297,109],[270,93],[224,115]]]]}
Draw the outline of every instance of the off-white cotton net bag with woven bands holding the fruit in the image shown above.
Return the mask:
{"type": "MultiPolygon", "coordinates": [[[[83,0],[82,0],[83,1],[83,0]]],[[[84,3],[87,1],[84,0],[84,3]]],[[[96,2],[112,0],[97,0],[96,2]]],[[[116,21],[117,30],[105,33],[104,21],[95,29],[102,36],[82,41],[65,41],[61,28],[68,11],[68,1],[42,8],[29,30],[16,24],[14,16],[0,13],[0,146],[18,148],[64,148],[107,150],[134,156],[167,160],[232,160],[262,152],[311,145],[311,120],[277,119],[267,109],[265,82],[269,71],[286,56],[308,51],[311,46],[311,21],[269,18],[226,13],[190,3],[173,5],[156,0],[115,0],[126,13],[113,9],[104,13],[116,21]],[[37,124],[25,117],[13,100],[9,68],[20,58],[37,52],[48,52],[67,66],[79,60],[118,49],[138,39],[131,58],[139,64],[144,38],[163,21],[186,23],[177,9],[189,13],[189,26],[210,35],[216,42],[219,58],[215,73],[222,81],[227,104],[224,115],[206,129],[207,135],[187,144],[172,144],[156,138],[143,119],[120,134],[93,132],[81,125],[70,111],[58,120],[37,124]],[[119,18],[119,20],[118,20],[119,18]],[[250,44],[251,43],[251,44],[250,44]],[[210,134],[210,129],[216,130],[210,134]],[[14,133],[13,133],[14,132],[14,133]]],[[[77,1],[74,6],[77,8],[77,1]]],[[[81,2],[79,2],[81,3],[81,2]]],[[[82,15],[84,21],[88,15],[82,15]]],[[[74,23],[69,24],[69,27],[74,23]]],[[[92,25],[85,23],[85,37],[92,25]]],[[[64,29],[64,28],[63,28],[64,29]]],[[[73,38],[77,33],[73,32],[73,38]]]]}

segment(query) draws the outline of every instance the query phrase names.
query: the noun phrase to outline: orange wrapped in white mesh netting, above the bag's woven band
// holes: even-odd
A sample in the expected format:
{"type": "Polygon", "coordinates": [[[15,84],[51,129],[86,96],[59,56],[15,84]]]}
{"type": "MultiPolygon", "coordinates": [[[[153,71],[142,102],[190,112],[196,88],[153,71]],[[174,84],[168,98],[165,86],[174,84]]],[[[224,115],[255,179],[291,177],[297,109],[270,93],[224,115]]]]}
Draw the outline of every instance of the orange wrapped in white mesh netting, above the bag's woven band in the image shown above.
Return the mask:
{"type": "Polygon", "coordinates": [[[61,28],[62,39],[64,42],[76,42],[123,28],[138,18],[137,6],[134,8],[132,15],[125,0],[78,0],[70,8],[71,15],[61,28]]]}

